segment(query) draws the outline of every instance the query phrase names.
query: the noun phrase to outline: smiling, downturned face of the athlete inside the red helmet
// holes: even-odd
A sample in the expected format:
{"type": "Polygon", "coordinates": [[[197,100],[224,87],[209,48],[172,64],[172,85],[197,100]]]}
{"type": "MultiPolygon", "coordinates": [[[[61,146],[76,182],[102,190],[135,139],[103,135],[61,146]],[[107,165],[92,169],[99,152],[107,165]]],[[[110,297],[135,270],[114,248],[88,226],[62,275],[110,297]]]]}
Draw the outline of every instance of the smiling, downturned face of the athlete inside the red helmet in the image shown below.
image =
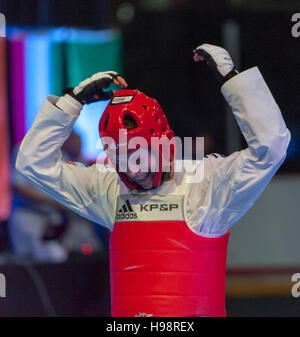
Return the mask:
{"type": "Polygon", "coordinates": [[[156,159],[149,150],[138,149],[127,155],[120,155],[118,157],[119,165],[124,160],[127,160],[127,172],[124,173],[131,180],[146,190],[153,187],[155,173],[151,171],[151,167],[155,167],[156,159]]]}

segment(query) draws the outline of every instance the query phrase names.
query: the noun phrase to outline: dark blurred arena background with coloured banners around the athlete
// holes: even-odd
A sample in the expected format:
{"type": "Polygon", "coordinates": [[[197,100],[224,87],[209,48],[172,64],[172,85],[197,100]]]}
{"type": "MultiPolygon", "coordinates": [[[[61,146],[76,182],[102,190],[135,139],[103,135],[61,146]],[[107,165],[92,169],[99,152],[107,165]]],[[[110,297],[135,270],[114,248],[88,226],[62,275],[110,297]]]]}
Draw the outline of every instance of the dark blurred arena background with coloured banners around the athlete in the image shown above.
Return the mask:
{"type": "MultiPolygon", "coordinates": [[[[292,292],[300,273],[300,37],[292,34],[299,1],[0,0],[0,13],[0,273],[7,284],[0,316],[110,313],[109,232],[14,169],[45,97],[116,70],[160,102],[177,136],[205,137],[206,154],[228,155],[246,144],[209,69],[192,60],[205,42],[227,48],[240,71],[259,67],[292,134],[286,161],[231,231],[228,316],[300,316],[292,292]]],[[[84,108],[64,145],[66,161],[95,161],[106,104],[84,108]]]]}

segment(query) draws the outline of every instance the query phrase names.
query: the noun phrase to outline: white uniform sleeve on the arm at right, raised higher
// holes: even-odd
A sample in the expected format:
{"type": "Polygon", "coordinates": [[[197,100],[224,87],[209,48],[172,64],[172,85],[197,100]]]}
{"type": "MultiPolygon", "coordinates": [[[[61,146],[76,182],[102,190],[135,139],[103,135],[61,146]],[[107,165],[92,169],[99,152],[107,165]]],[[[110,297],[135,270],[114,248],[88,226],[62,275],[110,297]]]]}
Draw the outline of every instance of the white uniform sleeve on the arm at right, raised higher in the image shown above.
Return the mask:
{"type": "Polygon", "coordinates": [[[227,81],[222,93],[248,148],[225,158],[205,158],[198,231],[212,235],[224,234],[253,205],[284,161],[290,141],[280,109],[257,68],[227,81]]]}

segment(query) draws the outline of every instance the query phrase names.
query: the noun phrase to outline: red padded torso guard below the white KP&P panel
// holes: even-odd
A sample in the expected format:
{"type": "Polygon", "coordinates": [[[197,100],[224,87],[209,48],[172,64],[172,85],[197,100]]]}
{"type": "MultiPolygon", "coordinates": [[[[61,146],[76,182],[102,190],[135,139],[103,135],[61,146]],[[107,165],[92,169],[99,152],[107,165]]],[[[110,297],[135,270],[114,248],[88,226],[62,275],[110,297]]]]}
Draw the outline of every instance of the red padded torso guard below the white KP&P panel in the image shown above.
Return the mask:
{"type": "Polygon", "coordinates": [[[184,221],[115,223],[112,316],[226,316],[228,237],[199,236],[184,221]]]}

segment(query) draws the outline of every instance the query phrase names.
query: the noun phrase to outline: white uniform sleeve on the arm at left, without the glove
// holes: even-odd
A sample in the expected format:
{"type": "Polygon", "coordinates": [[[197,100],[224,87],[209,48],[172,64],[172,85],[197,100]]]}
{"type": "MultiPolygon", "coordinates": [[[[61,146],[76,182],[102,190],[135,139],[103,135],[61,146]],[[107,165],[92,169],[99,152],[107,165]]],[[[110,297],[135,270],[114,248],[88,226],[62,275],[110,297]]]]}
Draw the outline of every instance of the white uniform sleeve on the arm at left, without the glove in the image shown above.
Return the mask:
{"type": "Polygon", "coordinates": [[[20,146],[16,168],[50,197],[112,229],[116,174],[104,168],[99,172],[97,165],[81,167],[62,160],[61,147],[77,116],[56,107],[57,99],[49,96],[44,102],[20,146]]]}

